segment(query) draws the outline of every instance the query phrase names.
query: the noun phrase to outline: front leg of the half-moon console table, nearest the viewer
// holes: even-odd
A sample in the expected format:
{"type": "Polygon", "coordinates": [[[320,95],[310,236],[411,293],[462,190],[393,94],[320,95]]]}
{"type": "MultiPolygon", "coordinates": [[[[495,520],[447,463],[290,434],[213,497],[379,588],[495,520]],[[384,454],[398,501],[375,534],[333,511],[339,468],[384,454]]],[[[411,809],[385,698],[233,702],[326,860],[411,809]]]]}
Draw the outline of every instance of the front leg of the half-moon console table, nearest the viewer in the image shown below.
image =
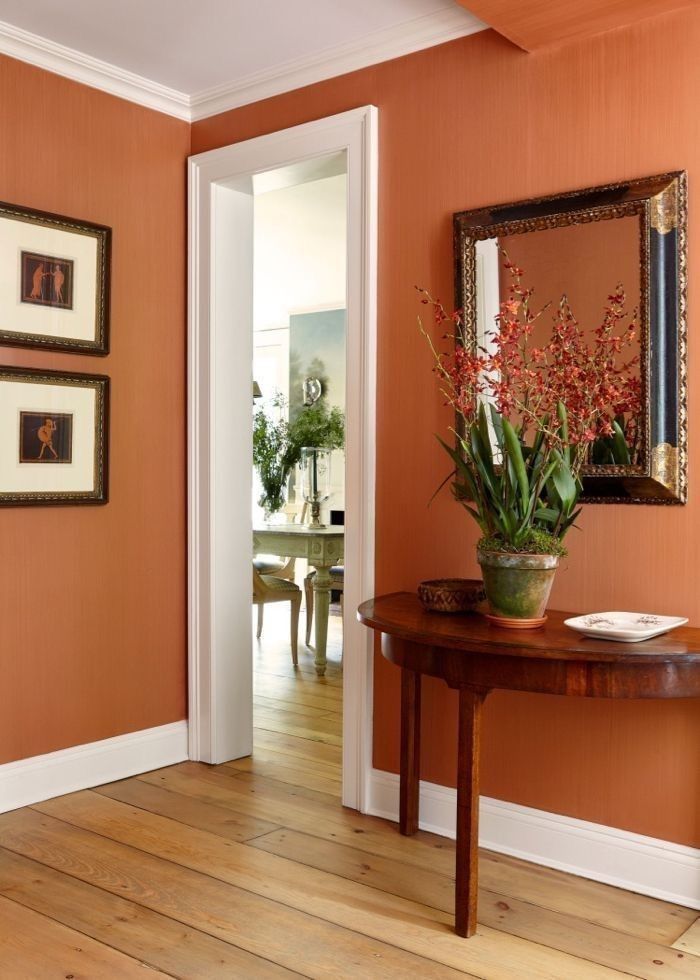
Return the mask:
{"type": "Polygon", "coordinates": [[[457,763],[457,858],[455,931],[476,932],[479,860],[479,748],[481,708],[487,691],[459,692],[459,756],[457,763]]]}

